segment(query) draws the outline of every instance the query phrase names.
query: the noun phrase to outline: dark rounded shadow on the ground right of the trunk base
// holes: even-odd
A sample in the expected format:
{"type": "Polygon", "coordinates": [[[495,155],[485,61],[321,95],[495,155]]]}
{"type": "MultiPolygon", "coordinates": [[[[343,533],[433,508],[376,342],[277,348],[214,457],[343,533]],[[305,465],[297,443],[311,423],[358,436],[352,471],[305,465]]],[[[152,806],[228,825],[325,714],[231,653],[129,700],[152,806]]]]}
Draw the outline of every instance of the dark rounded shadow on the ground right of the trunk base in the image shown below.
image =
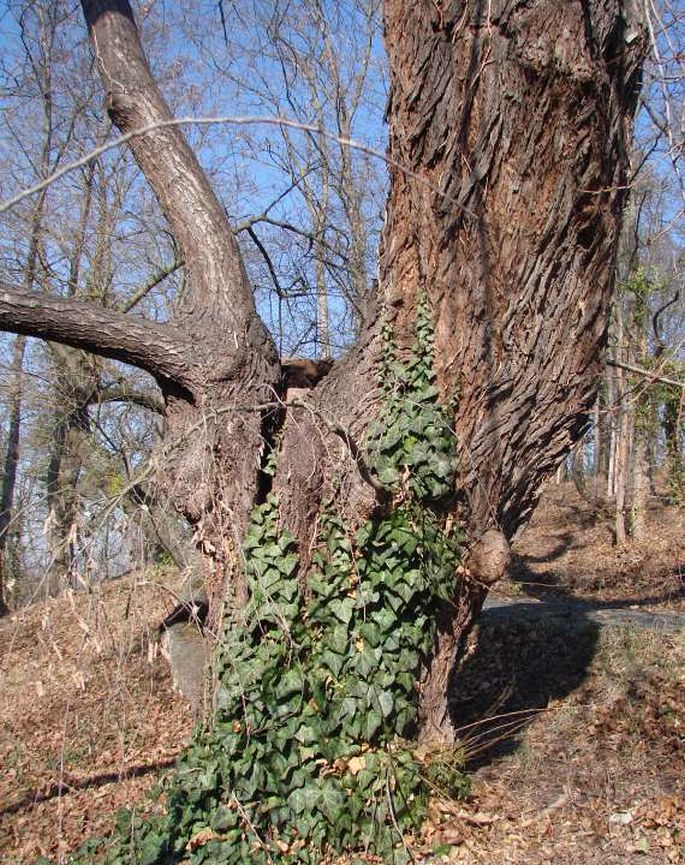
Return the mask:
{"type": "Polygon", "coordinates": [[[481,621],[450,693],[467,769],[515,751],[550,701],[583,683],[598,636],[599,625],[582,617],[481,621]]]}

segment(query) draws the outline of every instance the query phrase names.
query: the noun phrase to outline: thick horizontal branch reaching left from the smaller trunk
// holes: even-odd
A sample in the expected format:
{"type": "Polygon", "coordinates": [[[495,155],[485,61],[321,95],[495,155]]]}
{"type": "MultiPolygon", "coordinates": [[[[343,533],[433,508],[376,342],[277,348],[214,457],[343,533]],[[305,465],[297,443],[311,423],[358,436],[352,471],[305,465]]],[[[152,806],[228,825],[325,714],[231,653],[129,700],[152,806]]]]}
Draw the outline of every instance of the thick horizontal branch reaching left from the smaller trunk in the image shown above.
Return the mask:
{"type": "Polygon", "coordinates": [[[130,363],[154,376],[162,390],[191,402],[199,392],[193,343],[169,324],[0,282],[0,330],[130,363]]]}

